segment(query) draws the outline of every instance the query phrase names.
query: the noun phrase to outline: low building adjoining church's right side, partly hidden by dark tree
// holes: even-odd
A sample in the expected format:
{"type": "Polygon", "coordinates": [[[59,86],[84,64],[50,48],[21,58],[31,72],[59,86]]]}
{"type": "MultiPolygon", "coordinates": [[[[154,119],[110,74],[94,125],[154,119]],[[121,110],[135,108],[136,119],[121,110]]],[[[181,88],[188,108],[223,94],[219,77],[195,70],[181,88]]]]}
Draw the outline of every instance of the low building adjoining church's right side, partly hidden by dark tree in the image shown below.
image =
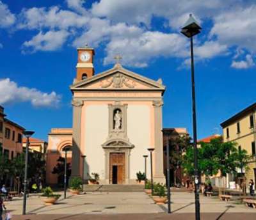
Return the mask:
{"type": "MultiPolygon", "coordinates": [[[[176,139],[182,136],[189,136],[186,128],[164,128],[163,129],[163,151],[164,151],[164,173],[166,174],[166,145],[169,140],[170,148],[175,148],[179,152],[179,146],[176,145],[176,139]]],[[[181,164],[170,164],[170,183],[171,185],[181,185],[184,182],[184,173],[181,164]]]]}

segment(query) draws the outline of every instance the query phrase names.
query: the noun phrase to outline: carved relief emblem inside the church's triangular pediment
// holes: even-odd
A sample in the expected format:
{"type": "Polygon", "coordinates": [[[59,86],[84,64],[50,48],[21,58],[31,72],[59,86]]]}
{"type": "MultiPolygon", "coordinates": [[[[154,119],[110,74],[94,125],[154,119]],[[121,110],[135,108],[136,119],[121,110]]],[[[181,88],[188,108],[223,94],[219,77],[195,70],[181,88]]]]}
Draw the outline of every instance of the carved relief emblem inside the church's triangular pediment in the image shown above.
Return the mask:
{"type": "Polygon", "coordinates": [[[122,74],[115,74],[111,79],[107,79],[105,83],[101,83],[101,88],[108,88],[113,85],[113,88],[122,88],[124,85],[128,88],[134,88],[135,82],[131,81],[122,74]]]}

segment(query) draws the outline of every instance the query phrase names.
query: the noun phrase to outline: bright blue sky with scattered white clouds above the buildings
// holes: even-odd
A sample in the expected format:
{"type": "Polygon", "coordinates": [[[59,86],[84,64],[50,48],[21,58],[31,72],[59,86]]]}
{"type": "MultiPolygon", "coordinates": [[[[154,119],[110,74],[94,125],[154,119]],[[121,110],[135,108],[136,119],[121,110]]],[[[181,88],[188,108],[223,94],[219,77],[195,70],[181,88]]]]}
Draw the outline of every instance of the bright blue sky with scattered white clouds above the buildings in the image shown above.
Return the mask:
{"type": "Polygon", "coordinates": [[[255,1],[0,1],[0,104],[8,118],[47,139],[72,126],[76,47],[95,48],[95,71],[122,65],[163,79],[164,127],[191,132],[189,40],[180,27],[195,15],[198,138],[255,102],[255,1]]]}

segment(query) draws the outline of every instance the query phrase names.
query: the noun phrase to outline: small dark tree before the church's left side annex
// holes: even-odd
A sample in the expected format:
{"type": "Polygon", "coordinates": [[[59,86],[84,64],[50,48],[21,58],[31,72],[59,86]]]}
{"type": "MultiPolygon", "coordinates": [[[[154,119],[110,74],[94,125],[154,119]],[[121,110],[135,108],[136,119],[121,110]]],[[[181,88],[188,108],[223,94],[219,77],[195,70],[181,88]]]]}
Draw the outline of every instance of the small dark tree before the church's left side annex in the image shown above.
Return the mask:
{"type": "MultiPolygon", "coordinates": [[[[63,185],[64,173],[65,173],[65,158],[59,157],[57,162],[58,162],[58,164],[56,164],[56,166],[54,166],[54,168],[52,169],[52,173],[58,175],[58,183],[63,185]]],[[[70,163],[67,162],[67,182],[68,182],[68,178],[70,177],[70,175],[71,175],[70,163]]]]}

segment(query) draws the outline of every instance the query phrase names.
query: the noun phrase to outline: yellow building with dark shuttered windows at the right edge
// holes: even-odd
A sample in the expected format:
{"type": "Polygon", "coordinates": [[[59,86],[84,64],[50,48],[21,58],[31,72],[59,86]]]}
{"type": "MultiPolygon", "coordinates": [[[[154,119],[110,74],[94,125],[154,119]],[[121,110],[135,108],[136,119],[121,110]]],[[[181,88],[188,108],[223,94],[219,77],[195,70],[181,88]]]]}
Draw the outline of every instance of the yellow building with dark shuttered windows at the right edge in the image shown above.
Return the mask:
{"type": "MultiPolygon", "coordinates": [[[[228,118],[225,122],[221,123],[223,129],[223,141],[235,141],[237,147],[244,149],[248,154],[253,156],[252,161],[248,164],[248,171],[245,171],[246,185],[250,179],[256,180],[256,103],[252,104],[246,109],[228,118]]],[[[238,172],[241,173],[239,169],[238,172]]],[[[232,175],[227,176],[227,184],[233,180],[232,175]]],[[[228,187],[228,185],[227,185],[228,187]]]]}

